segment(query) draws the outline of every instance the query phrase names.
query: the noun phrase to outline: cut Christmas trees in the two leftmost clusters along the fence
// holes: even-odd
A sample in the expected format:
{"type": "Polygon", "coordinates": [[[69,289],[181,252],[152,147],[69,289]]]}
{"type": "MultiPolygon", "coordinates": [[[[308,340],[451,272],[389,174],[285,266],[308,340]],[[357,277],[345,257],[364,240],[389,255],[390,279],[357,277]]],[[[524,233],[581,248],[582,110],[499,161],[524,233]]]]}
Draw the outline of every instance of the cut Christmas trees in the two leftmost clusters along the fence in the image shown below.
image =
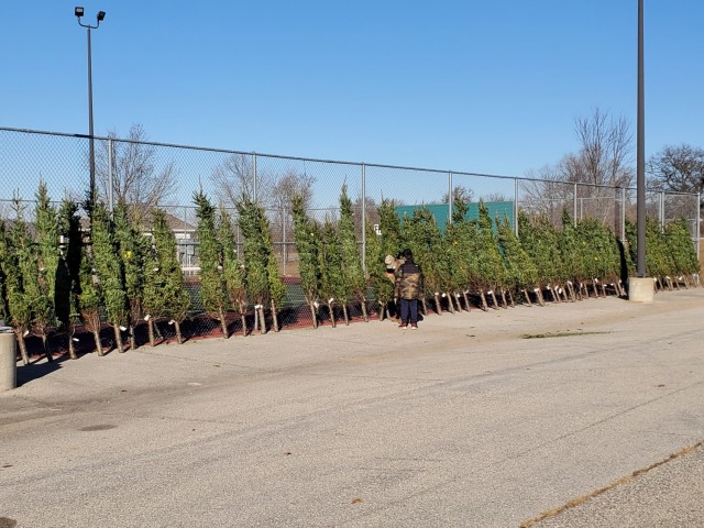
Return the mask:
{"type": "MultiPolygon", "coordinates": [[[[44,184],[35,198],[31,220],[19,198],[13,200],[14,220],[0,219],[0,319],[12,326],[24,364],[29,363],[26,336],[38,336],[52,361],[47,339],[57,330],[66,334],[66,348],[75,359],[79,324],[94,333],[99,355],[103,355],[103,322],[113,328],[120,352],[124,351],[123,332],[130,348],[138,346],[134,330],[141,321],[147,323],[152,345],[158,319],[174,324],[177,341],[183,341],[180,324],[189,316],[191,299],[177,258],[176,238],[162,209],[146,211],[151,217],[147,230],[127,204],[119,204],[110,215],[105,204],[87,202],[87,234],[75,201],[66,199],[56,208],[44,184]]],[[[228,311],[242,316],[246,332],[244,315],[253,302],[257,324],[261,321],[266,331],[264,307],[268,305],[278,330],[276,312],[285,286],[264,210],[246,197],[238,204],[245,237],[239,257],[229,213],[224,209],[218,213],[202,193],[194,200],[204,309],[220,320],[228,337],[228,311]]]]}

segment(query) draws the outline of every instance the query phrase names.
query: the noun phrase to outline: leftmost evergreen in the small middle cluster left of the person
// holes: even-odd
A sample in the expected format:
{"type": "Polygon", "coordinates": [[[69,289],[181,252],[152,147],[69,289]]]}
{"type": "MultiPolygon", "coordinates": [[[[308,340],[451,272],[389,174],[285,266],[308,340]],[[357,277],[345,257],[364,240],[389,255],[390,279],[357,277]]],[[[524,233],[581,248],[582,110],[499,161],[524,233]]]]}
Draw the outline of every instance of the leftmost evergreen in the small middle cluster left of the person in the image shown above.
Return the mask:
{"type": "Polygon", "coordinates": [[[293,198],[294,238],[298,252],[298,274],[306,302],[310,307],[312,328],[318,328],[317,306],[320,299],[320,233],[307,215],[301,195],[293,198]]]}

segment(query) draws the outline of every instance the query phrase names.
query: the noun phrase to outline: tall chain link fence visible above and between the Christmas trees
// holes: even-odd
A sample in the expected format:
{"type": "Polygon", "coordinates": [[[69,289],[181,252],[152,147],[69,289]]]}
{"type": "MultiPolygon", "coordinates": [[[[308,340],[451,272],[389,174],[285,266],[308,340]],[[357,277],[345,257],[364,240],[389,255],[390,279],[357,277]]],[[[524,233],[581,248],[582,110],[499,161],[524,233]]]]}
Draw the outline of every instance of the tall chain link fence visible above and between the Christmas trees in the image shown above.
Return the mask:
{"type": "MultiPolygon", "coordinates": [[[[90,141],[82,134],[0,128],[0,217],[12,220],[18,205],[22,205],[25,218],[31,219],[40,183],[47,186],[54,200],[84,201],[91,180],[90,141]]],[[[288,322],[300,319],[295,311],[304,305],[302,293],[297,288],[298,265],[290,215],[290,198],[295,193],[304,195],[311,218],[334,221],[339,217],[340,193],[346,186],[354,205],[363,255],[366,238],[372,235],[366,227],[378,222],[377,207],[383,199],[399,206],[444,204],[450,215],[453,189],[473,201],[513,204],[510,220],[515,229],[520,211],[548,215],[556,226],[561,226],[563,210],[566,210],[573,221],[596,218],[624,238],[626,219],[636,219],[634,188],[307,160],[118,138],[92,141],[95,193],[100,200],[109,207],[124,200],[141,208],[158,206],[167,212],[178,241],[184,274],[193,290],[191,336],[215,331],[217,327],[206,321],[199,308],[197,219],[193,201],[198,191],[228,209],[235,222],[235,204],[243,194],[265,208],[280,272],[288,285],[284,326],[286,317],[288,322]]],[[[698,195],[648,190],[646,201],[647,216],[662,224],[684,218],[698,253],[698,195]]],[[[237,223],[234,232],[238,244],[242,244],[237,223]]],[[[168,328],[164,334],[169,334],[168,328]]]]}

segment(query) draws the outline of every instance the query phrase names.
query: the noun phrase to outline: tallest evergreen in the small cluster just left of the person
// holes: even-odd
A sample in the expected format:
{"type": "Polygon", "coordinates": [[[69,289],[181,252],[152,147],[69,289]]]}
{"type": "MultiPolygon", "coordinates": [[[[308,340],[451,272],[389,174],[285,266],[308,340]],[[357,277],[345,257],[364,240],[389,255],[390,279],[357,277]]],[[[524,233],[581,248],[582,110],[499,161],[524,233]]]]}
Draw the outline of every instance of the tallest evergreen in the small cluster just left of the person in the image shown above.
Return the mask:
{"type": "MultiPolygon", "coordinates": [[[[362,270],[362,258],[354,233],[352,200],[350,200],[346,190],[346,185],[343,185],[340,194],[340,222],[338,226],[340,250],[342,252],[342,278],[346,296],[360,302],[362,317],[365,321],[369,321],[366,314],[366,279],[362,270]]],[[[343,305],[343,311],[346,323],[346,305],[343,305]]]]}

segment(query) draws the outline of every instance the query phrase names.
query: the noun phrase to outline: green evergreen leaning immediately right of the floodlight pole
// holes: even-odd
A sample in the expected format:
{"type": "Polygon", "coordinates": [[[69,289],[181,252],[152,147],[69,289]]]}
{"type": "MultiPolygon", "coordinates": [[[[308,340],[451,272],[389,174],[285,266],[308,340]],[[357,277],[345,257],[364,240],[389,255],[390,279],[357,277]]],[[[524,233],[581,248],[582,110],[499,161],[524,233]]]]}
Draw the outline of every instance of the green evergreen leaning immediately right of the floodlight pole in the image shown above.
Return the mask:
{"type": "Polygon", "coordinates": [[[112,326],[118,352],[124,352],[122,330],[127,330],[130,307],[124,285],[124,267],[119,255],[114,223],[105,204],[96,204],[90,210],[92,257],[106,304],[108,323],[112,326]],[[116,258],[116,256],[118,256],[116,258]]]}

